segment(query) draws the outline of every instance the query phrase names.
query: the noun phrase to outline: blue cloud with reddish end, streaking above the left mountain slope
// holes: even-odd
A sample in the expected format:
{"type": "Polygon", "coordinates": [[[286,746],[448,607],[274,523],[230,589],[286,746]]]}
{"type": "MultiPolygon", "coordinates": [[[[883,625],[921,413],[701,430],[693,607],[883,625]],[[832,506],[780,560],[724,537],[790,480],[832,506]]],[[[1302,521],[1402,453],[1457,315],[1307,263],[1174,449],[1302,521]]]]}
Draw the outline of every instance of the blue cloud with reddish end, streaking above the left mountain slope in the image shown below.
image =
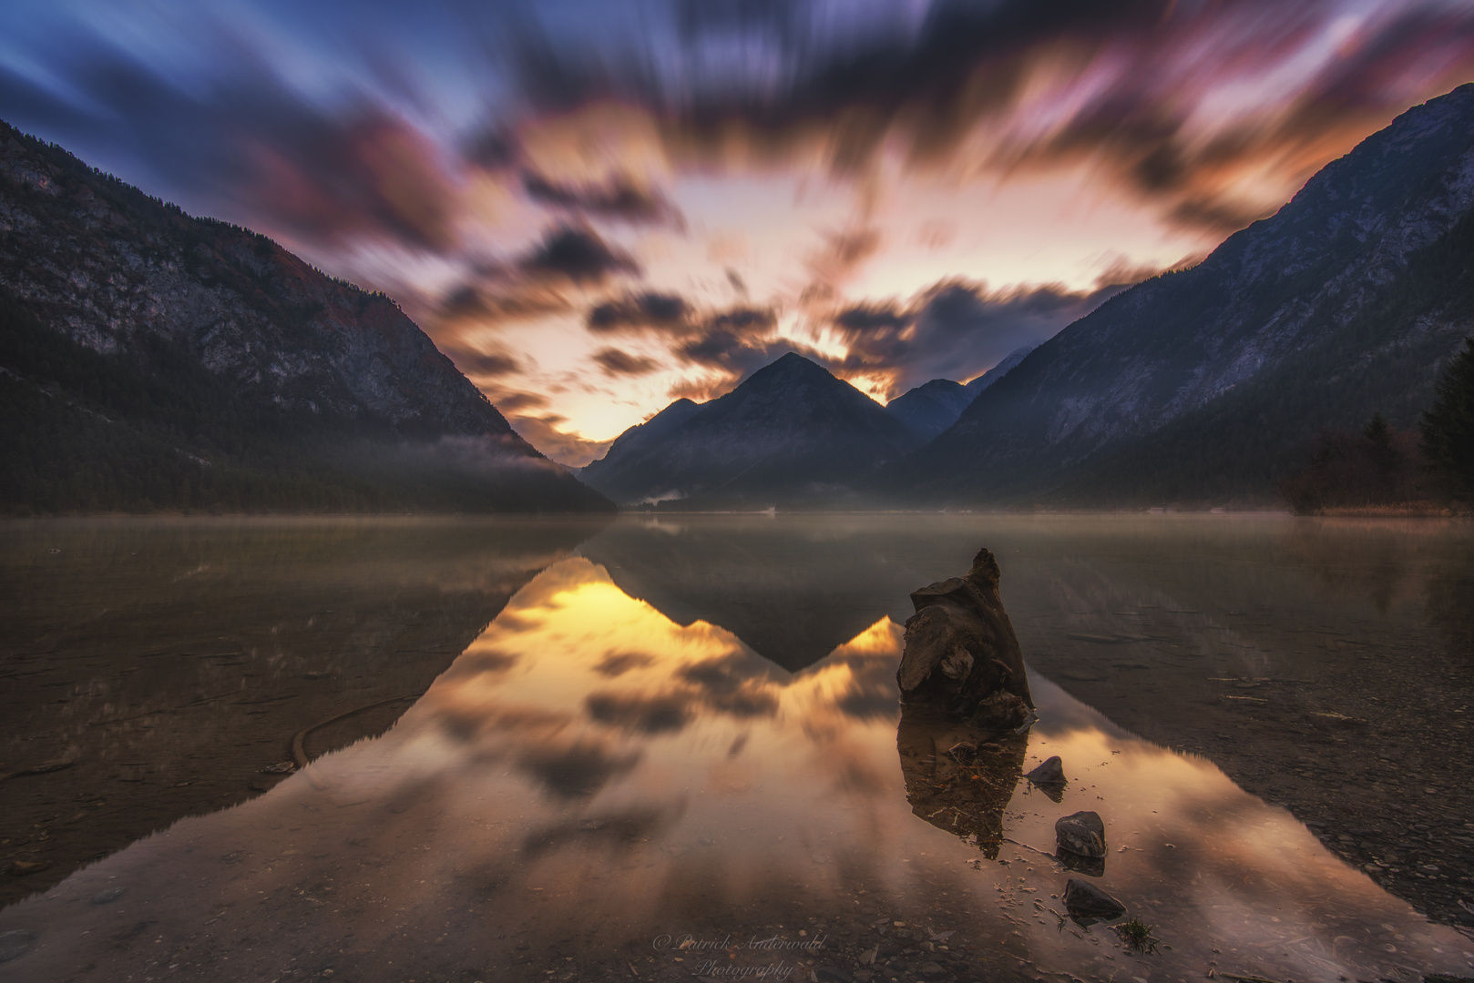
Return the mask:
{"type": "Polygon", "coordinates": [[[453,178],[435,144],[382,105],[318,109],[228,38],[206,90],[97,37],[52,53],[66,97],[0,74],[0,112],[164,184],[187,206],[312,246],[383,239],[455,246],[453,178]]]}

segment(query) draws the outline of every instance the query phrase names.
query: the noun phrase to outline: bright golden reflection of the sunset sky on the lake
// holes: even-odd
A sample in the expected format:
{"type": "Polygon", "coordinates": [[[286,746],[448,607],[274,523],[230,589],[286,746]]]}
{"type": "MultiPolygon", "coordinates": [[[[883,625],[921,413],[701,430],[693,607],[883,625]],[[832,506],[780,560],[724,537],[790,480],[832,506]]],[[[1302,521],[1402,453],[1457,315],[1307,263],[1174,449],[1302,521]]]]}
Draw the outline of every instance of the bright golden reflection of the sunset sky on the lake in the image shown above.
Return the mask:
{"type": "Polygon", "coordinates": [[[1017,766],[1060,755],[1069,787],[1055,803],[999,786],[983,850],[999,862],[983,861],[977,836],[908,803],[901,640],[881,612],[789,671],[725,626],[677,623],[587,557],[560,560],[383,737],[0,912],[0,933],[35,936],[0,977],[674,980],[784,961],[786,979],[809,979],[805,964],[884,980],[1467,971],[1465,939],[1290,814],[1038,675],[1041,722],[1017,766]],[[1045,853],[1054,821],[1080,809],[1106,818],[1101,887],[1170,949],[1131,956],[1106,927],[1055,915],[1069,874],[1045,853]],[[749,946],[772,937],[812,948],[749,946]]]}

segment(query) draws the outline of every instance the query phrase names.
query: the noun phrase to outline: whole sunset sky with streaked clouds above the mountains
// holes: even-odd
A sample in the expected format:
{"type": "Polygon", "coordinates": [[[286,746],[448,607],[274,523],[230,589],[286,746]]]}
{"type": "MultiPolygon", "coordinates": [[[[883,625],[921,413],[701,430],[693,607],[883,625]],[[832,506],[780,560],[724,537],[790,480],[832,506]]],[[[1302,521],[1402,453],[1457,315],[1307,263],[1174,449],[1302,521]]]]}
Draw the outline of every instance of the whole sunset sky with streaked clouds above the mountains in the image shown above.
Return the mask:
{"type": "Polygon", "coordinates": [[[1452,0],[0,6],[0,118],[385,290],[572,466],[787,351],[973,379],[1471,80],[1452,0]]]}

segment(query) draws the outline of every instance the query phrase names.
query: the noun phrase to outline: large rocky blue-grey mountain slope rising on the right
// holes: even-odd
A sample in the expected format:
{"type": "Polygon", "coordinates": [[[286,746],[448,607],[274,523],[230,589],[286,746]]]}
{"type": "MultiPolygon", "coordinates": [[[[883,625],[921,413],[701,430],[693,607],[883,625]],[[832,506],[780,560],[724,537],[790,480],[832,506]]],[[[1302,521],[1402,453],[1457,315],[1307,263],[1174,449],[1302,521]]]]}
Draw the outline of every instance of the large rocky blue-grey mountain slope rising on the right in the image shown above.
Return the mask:
{"type": "Polygon", "coordinates": [[[1274,501],[1318,427],[1409,427],[1474,324],[1474,84],[1197,267],[1111,298],[879,477],[911,501],[1274,501]]]}

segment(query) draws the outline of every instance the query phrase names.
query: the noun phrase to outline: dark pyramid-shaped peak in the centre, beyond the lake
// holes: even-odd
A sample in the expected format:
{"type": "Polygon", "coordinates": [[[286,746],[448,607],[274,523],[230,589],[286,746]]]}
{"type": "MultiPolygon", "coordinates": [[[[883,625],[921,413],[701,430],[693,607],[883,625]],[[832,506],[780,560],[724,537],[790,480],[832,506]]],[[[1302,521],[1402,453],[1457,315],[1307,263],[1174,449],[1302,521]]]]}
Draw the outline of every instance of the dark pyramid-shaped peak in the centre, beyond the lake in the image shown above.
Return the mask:
{"type": "Polygon", "coordinates": [[[793,352],[641,433],[672,410],[621,435],[584,479],[622,503],[769,506],[842,495],[920,444],[879,402],[793,352]]]}

